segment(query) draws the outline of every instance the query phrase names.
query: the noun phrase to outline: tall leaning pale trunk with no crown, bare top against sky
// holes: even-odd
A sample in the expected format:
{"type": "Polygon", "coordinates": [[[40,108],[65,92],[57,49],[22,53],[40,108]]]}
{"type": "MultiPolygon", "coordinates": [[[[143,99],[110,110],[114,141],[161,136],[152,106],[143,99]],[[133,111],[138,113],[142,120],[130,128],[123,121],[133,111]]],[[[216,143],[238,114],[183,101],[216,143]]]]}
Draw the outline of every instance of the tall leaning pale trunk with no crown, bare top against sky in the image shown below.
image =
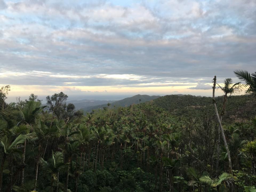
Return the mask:
{"type": "Polygon", "coordinates": [[[216,117],[217,117],[217,120],[218,120],[218,123],[219,123],[219,126],[221,128],[221,134],[222,134],[222,138],[223,138],[223,141],[224,141],[224,145],[226,147],[226,151],[227,151],[227,156],[229,158],[229,172],[232,173],[232,163],[231,163],[231,158],[230,158],[230,152],[229,152],[229,147],[227,145],[227,141],[226,141],[226,138],[225,138],[225,134],[224,134],[224,131],[223,131],[223,128],[222,128],[222,125],[221,125],[221,120],[219,118],[219,113],[218,113],[218,109],[217,109],[217,106],[216,106],[216,102],[215,102],[215,96],[214,96],[214,92],[215,92],[215,86],[216,86],[216,76],[214,76],[214,83],[213,83],[213,105],[214,105],[214,109],[215,109],[215,114],[216,114],[216,117]]]}

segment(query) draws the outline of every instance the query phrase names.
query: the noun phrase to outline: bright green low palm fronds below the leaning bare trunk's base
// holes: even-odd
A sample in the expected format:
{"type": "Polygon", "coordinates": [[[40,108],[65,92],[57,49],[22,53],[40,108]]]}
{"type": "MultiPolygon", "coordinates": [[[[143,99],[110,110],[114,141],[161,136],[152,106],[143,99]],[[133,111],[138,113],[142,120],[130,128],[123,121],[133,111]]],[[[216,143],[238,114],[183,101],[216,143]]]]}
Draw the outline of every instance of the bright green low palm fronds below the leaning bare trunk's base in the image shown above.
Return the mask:
{"type": "Polygon", "coordinates": [[[208,175],[203,175],[199,179],[199,181],[207,185],[210,185],[213,188],[217,188],[217,191],[219,192],[219,187],[221,186],[221,184],[225,183],[227,186],[230,187],[233,185],[234,178],[232,174],[224,172],[221,175],[219,175],[218,178],[214,178],[214,179],[211,179],[208,175]]]}

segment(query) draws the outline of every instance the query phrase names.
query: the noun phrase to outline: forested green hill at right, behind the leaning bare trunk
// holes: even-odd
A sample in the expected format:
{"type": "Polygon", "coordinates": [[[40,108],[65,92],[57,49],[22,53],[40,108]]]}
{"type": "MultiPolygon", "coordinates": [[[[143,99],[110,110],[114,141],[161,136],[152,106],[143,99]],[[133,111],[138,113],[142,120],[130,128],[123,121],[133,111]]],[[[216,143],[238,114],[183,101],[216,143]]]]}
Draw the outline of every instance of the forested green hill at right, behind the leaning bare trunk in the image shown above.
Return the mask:
{"type": "MultiPolygon", "coordinates": [[[[223,96],[215,98],[218,111],[221,112],[223,96]]],[[[169,111],[173,115],[196,117],[214,114],[212,98],[193,95],[166,95],[153,101],[153,105],[169,111]]],[[[256,99],[251,95],[229,96],[224,121],[242,122],[256,115],[256,99]]]]}

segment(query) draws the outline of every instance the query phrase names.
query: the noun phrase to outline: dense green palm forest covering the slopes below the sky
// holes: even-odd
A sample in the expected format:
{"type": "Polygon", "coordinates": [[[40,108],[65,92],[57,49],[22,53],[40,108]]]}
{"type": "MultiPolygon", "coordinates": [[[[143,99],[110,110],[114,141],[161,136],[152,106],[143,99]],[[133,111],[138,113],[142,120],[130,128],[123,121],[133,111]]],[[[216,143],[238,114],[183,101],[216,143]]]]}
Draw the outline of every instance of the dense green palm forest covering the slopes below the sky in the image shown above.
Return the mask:
{"type": "MultiPolygon", "coordinates": [[[[47,97],[46,110],[34,94],[6,104],[9,90],[0,95],[0,191],[256,190],[250,96],[227,97],[225,146],[207,97],[167,95],[83,115],[62,92],[47,97]]],[[[215,101],[221,111],[223,97],[215,101]]]]}

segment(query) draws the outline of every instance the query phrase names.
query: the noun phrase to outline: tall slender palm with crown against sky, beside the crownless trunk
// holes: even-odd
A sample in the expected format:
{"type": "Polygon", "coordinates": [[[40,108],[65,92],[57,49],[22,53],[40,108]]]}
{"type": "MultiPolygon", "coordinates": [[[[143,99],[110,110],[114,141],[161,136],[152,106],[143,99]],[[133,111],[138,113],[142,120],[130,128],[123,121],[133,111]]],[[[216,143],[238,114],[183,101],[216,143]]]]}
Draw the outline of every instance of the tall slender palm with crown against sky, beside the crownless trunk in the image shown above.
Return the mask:
{"type": "MultiPolygon", "coordinates": [[[[221,118],[220,121],[222,121],[222,117],[226,111],[226,105],[227,105],[227,95],[230,94],[234,94],[236,92],[241,91],[241,82],[238,83],[234,83],[233,84],[233,80],[231,78],[227,78],[224,80],[223,82],[224,86],[221,87],[219,84],[217,84],[219,87],[218,89],[221,89],[224,92],[224,98],[223,98],[223,106],[222,106],[222,111],[221,111],[221,118]]],[[[219,143],[220,143],[220,125],[218,128],[218,154],[217,154],[217,166],[216,166],[216,171],[218,172],[218,167],[219,167],[219,143]]]]}

